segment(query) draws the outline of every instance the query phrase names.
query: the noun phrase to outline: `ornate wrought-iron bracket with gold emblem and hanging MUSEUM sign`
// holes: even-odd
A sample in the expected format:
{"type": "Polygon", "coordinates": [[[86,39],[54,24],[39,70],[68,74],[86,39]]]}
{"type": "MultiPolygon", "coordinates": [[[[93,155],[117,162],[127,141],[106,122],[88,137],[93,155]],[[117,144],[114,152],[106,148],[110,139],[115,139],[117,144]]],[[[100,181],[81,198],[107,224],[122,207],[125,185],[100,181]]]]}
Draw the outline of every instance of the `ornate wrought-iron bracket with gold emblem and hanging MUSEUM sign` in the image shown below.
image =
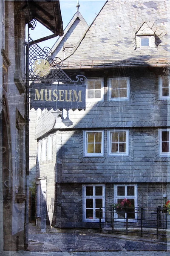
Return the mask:
{"type": "Polygon", "coordinates": [[[30,85],[31,108],[57,109],[85,109],[85,81],[86,77],[76,76],[72,80],[61,68],[62,60],[52,57],[49,47],[43,49],[35,43],[29,29],[33,30],[36,20],[28,24],[27,66],[30,85]]]}

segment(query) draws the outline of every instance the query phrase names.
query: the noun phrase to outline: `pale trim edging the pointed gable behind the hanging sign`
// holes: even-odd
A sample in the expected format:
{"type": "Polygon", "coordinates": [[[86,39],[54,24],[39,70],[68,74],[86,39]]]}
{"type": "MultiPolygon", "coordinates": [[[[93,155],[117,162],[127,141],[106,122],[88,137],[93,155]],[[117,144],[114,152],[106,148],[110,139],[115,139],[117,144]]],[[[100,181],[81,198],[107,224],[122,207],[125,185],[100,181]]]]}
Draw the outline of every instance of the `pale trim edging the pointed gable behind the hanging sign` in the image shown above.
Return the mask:
{"type": "MultiPolygon", "coordinates": [[[[59,37],[59,38],[57,39],[56,43],[55,43],[55,44],[53,45],[53,47],[51,48],[51,51],[52,51],[52,52],[55,51],[55,49],[58,47],[59,43],[63,40],[63,38],[65,38],[66,34],[67,34],[68,31],[71,29],[71,27],[74,25],[74,23],[75,23],[75,21],[76,21],[77,19],[79,19],[79,20],[82,22],[82,24],[83,24],[85,30],[88,29],[88,24],[86,23],[85,19],[82,17],[81,13],[80,13],[79,11],[77,11],[77,12],[75,13],[75,15],[72,17],[72,19],[70,20],[70,22],[68,23],[68,25],[66,26],[66,28],[64,29],[64,34],[63,34],[63,36],[62,36],[62,37],[59,37]]],[[[63,42],[63,44],[64,44],[64,42],[63,42]]]]}

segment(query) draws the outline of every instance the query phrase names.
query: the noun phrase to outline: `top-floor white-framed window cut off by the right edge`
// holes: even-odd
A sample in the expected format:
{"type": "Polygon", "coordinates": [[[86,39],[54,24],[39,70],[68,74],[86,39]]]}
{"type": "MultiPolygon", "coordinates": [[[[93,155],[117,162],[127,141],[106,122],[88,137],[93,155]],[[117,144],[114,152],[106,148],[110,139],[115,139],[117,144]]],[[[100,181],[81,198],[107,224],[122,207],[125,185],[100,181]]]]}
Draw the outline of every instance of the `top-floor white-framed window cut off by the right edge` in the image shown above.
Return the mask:
{"type": "Polygon", "coordinates": [[[170,76],[159,76],[159,99],[170,99],[170,76]]]}

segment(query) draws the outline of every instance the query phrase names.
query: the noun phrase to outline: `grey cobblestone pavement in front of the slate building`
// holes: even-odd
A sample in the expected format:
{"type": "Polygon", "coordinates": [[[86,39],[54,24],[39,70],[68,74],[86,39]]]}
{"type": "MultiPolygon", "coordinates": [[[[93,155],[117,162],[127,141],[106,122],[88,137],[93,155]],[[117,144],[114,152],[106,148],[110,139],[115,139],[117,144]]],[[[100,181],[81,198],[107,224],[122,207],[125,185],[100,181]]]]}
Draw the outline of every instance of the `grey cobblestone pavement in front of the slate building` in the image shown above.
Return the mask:
{"type": "MultiPolygon", "coordinates": [[[[103,234],[93,230],[57,229],[57,233],[41,233],[30,224],[30,251],[51,252],[123,252],[167,251],[167,242],[139,236],[103,234]]],[[[103,255],[103,254],[102,254],[103,255]]],[[[120,254],[117,254],[120,255],[120,254]]],[[[170,253],[169,253],[170,256],[170,253]]]]}

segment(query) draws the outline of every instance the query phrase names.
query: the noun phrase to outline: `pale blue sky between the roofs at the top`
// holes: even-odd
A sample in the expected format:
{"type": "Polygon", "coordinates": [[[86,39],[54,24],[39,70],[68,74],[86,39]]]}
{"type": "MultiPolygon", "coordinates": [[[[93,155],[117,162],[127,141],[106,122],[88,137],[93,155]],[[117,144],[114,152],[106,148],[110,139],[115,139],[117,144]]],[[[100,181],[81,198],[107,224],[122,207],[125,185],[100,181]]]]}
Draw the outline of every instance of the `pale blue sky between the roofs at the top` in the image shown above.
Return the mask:
{"type": "MultiPolygon", "coordinates": [[[[93,22],[94,18],[99,13],[100,9],[105,4],[105,2],[106,0],[79,0],[79,12],[82,14],[88,25],[90,25],[93,22]]],[[[65,29],[69,21],[77,12],[77,0],[60,0],[59,3],[62,14],[63,29],[65,29]]],[[[47,35],[51,35],[51,31],[46,29],[39,22],[37,22],[37,26],[33,31],[30,29],[30,36],[32,39],[42,38],[47,35]]],[[[42,48],[45,46],[51,48],[56,41],[57,37],[42,42],[39,45],[42,48]]]]}

